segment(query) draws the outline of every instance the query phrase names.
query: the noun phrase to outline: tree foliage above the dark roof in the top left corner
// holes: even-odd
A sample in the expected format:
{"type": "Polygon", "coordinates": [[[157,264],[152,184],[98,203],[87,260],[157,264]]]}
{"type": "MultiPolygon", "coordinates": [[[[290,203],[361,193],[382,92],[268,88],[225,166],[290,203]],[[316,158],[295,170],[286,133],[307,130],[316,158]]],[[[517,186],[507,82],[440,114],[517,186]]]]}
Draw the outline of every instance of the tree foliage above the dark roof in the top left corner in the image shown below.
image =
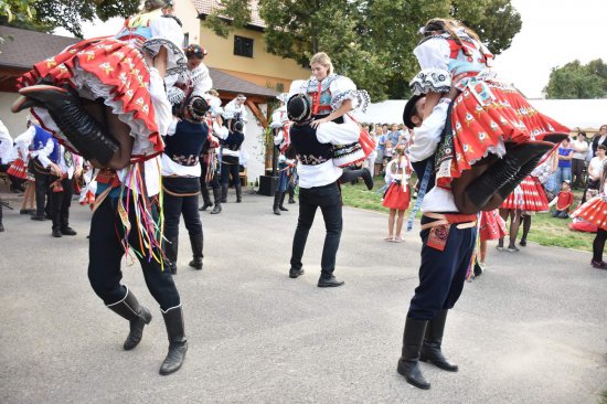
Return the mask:
{"type": "Polygon", "coordinates": [[[62,26],[82,38],[84,21],[132,15],[139,4],[139,0],[0,0],[0,25],[42,32],[62,26]]]}

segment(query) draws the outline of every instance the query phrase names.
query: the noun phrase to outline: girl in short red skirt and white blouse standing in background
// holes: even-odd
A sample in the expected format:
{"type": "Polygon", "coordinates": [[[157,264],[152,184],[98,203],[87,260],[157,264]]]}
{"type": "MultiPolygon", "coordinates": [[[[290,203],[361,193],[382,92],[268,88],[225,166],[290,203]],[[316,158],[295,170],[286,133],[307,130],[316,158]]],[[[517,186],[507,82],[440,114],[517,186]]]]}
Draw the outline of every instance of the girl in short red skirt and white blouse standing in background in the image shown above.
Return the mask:
{"type": "Polygon", "coordinates": [[[387,220],[387,237],[384,240],[394,243],[402,243],[404,241],[401,237],[401,232],[403,230],[405,211],[408,209],[411,202],[408,179],[413,169],[404,150],[403,147],[397,147],[394,158],[387,163],[385,169],[385,182],[388,184],[388,189],[384,195],[382,205],[390,209],[390,216],[387,220]],[[398,213],[398,219],[396,219],[396,213],[398,213]],[[394,230],[394,224],[396,224],[396,230],[394,230]]]}

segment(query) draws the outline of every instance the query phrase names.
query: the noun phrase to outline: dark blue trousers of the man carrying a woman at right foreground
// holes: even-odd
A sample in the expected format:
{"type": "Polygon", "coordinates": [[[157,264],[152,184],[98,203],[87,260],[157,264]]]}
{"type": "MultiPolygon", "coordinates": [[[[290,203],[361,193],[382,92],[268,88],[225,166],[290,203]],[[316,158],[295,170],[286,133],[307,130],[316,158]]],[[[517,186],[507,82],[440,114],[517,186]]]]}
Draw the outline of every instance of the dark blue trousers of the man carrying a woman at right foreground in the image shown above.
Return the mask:
{"type": "MultiPolygon", "coordinates": [[[[434,221],[422,217],[422,224],[434,221]]],[[[432,320],[439,310],[451,309],[461,295],[466,273],[475,251],[476,228],[457,228],[451,224],[444,251],[429,247],[430,228],[419,233],[422,237],[422,264],[419,286],[411,299],[407,317],[432,320]]]]}

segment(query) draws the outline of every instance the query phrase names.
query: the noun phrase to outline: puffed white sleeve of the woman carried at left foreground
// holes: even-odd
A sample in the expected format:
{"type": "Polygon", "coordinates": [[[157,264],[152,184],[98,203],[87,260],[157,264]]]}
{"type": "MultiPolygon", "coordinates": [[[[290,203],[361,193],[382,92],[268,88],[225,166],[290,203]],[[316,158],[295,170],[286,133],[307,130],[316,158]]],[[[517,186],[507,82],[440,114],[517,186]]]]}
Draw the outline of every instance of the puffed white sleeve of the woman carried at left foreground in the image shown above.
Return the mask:
{"type": "Polygon", "coordinates": [[[167,49],[166,76],[179,75],[184,72],[187,59],[181,50],[183,30],[177,20],[170,17],[156,18],[150,22],[150,31],[152,36],[143,43],[143,50],[155,56],[162,46],[167,49]]]}

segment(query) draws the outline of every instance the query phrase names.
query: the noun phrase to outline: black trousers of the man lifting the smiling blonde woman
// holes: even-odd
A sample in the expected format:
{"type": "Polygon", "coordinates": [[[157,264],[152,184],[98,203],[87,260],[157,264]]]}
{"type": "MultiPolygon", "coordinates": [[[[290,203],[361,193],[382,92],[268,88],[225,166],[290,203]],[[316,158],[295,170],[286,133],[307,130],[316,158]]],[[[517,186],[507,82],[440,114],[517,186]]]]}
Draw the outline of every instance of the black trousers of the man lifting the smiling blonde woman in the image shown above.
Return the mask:
{"type": "Polygon", "coordinates": [[[336,256],[343,221],[341,215],[341,193],[337,182],[324,187],[300,188],[299,189],[299,217],[297,228],[292,238],[291,268],[301,269],[301,257],[306,248],[308,233],[315,221],[317,209],[320,208],[324,220],[324,245],[322,247],[321,276],[330,278],[336,269],[336,256]]]}

